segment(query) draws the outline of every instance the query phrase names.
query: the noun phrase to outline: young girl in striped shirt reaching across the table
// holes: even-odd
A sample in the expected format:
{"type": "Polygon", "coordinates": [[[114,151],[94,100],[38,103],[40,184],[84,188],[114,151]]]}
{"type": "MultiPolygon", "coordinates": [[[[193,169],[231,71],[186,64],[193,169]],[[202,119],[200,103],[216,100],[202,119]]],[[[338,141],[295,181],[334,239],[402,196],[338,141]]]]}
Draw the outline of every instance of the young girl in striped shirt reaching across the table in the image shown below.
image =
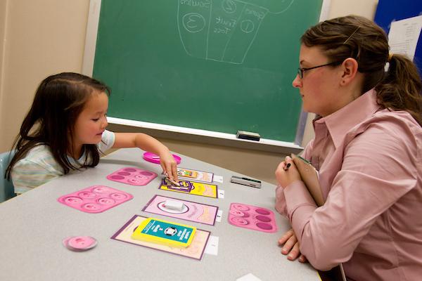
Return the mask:
{"type": "Polygon", "coordinates": [[[98,164],[109,148],[141,148],[160,156],[163,172],[177,181],[177,166],[165,145],[144,133],[106,130],[110,89],[77,73],[51,75],[41,82],[13,145],[6,170],[16,193],[98,164]]]}

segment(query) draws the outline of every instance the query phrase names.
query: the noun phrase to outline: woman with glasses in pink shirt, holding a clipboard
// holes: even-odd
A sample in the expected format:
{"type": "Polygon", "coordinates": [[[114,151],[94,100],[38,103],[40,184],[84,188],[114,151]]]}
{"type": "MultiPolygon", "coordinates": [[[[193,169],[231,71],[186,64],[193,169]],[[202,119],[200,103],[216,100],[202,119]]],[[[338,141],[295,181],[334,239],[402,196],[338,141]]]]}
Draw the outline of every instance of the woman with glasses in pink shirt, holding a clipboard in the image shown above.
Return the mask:
{"type": "Polygon", "coordinates": [[[302,157],[319,171],[317,207],[292,159],[276,169],[276,209],[292,230],[288,259],[347,280],[422,276],[422,96],[416,65],[389,54],[388,37],[359,16],[326,20],[302,35],[293,80],[314,112],[302,157]]]}

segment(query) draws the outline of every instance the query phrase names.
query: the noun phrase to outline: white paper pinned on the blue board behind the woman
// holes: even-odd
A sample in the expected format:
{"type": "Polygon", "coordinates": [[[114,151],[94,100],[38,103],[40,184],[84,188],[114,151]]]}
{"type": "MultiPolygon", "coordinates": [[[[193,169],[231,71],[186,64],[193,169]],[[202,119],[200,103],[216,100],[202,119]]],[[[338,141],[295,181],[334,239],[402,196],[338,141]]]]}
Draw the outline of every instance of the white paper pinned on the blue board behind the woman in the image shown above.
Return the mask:
{"type": "Polygon", "coordinates": [[[388,34],[390,53],[407,55],[413,60],[421,34],[421,27],[422,15],[391,22],[390,33],[388,34]]]}

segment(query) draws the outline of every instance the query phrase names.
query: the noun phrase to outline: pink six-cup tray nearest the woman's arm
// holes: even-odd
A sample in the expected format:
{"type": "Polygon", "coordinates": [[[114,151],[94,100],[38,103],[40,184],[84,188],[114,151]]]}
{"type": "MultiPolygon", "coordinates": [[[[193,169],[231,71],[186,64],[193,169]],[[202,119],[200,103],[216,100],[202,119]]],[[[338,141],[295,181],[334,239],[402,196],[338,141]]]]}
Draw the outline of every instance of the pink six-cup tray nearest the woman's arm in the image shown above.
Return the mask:
{"type": "Polygon", "coordinates": [[[275,233],[277,231],[274,213],[265,208],[248,204],[231,203],[229,210],[229,223],[240,228],[275,233]]]}

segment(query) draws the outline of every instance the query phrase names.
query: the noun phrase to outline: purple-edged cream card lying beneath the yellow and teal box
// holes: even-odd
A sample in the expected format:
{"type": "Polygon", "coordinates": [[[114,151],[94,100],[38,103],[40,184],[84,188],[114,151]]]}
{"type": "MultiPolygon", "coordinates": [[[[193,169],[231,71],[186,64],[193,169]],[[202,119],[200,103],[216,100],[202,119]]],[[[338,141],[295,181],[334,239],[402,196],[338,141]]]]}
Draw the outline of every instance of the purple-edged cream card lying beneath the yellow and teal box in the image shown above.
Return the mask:
{"type": "Polygon", "coordinates": [[[170,247],[164,244],[133,239],[131,237],[132,234],[136,228],[138,228],[138,226],[141,225],[141,223],[146,219],[146,217],[134,215],[127,223],[124,224],[124,226],[122,226],[122,228],[120,228],[120,230],[117,231],[117,233],[115,233],[115,235],[111,237],[111,239],[151,249],[157,249],[159,251],[166,251],[167,253],[186,256],[191,259],[202,259],[205,246],[207,245],[207,241],[211,234],[209,231],[197,229],[191,244],[186,248],[170,247]]]}

